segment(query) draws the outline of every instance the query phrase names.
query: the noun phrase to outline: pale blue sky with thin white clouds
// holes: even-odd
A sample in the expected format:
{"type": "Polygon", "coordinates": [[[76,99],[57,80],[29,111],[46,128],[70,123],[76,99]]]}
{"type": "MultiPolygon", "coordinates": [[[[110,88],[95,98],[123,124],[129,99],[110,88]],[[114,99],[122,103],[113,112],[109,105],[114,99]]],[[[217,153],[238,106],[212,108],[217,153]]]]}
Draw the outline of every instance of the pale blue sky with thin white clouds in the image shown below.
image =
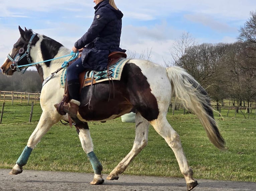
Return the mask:
{"type": "MultiPolygon", "coordinates": [[[[124,14],[120,47],[164,65],[182,34],[197,44],[234,43],[239,30],[256,11],[255,0],[115,0],[124,14]]],[[[89,29],[93,0],[0,0],[0,61],[20,34],[18,26],[46,35],[67,48],[89,29]]],[[[0,63],[0,65],[2,65],[0,63]]]]}

